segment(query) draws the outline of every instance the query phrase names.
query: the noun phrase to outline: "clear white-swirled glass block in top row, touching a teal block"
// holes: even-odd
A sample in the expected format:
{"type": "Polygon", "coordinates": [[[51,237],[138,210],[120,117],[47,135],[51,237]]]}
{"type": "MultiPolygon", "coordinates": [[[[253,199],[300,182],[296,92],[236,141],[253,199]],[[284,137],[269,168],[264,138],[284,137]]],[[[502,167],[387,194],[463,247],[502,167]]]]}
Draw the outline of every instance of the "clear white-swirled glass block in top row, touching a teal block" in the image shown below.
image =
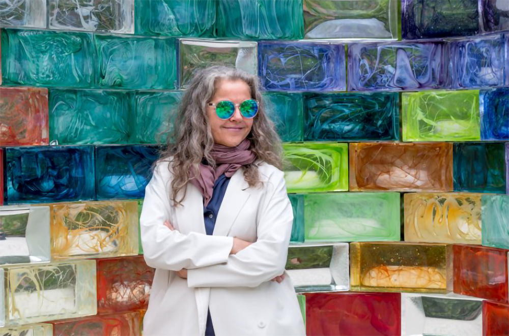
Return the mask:
{"type": "Polygon", "coordinates": [[[134,33],[134,0],[49,0],[49,29],[134,33]]]}

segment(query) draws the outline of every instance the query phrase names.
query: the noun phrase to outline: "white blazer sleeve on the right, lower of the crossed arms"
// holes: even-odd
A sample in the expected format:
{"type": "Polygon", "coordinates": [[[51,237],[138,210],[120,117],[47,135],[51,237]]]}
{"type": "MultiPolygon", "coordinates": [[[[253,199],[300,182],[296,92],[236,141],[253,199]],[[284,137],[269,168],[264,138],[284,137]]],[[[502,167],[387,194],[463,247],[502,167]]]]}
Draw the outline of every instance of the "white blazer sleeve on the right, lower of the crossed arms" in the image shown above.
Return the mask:
{"type": "Polygon", "coordinates": [[[284,272],[293,210],[283,173],[278,171],[274,180],[269,182],[271,196],[258,221],[257,241],[231,255],[227,263],[188,270],[188,287],[257,287],[284,272]]]}

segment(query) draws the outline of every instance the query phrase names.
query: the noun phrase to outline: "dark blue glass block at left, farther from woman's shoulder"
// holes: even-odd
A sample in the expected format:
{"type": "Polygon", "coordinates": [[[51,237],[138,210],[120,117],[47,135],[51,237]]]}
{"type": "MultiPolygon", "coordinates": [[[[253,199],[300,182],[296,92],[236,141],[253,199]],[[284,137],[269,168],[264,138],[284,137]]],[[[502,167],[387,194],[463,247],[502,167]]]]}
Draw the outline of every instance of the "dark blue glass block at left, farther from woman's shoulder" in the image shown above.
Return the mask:
{"type": "Polygon", "coordinates": [[[6,152],[9,204],[95,198],[93,147],[12,147],[6,152]]]}

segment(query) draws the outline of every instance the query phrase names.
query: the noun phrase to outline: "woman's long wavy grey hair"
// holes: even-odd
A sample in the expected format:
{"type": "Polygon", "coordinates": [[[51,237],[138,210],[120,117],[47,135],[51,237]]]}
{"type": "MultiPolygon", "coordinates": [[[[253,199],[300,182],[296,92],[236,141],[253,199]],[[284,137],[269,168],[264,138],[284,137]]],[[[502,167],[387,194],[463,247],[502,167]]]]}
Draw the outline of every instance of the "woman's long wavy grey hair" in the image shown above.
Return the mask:
{"type": "Polygon", "coordinates": [[[185,91],[177,112],[174,136],[167,137],[166,149],[161,152],[161,159],[169,161],[168,169],[173,172],[171,199],[176,205],[181,205],[184,200],[189,180],[197,177],[191,172],[197,174],[204,159],[215,167],[214,158],[210,154],[214,139],[207,106],[214,97],[220,80],[242,80],[249,86],[251,98],[260,103],[258,114],[254,117],[251,131],[247,135],[247,139],[251,141],[249,149],[256,156],[253,164],[244,167],[244,178],[248,185],[258,187],[261,184],[257,165],[260,162],[281,169],[281,140],[274,124],[267,117],[258,77],[230,67],[214,66],[203,69],[196,73],[185,91]],[[176,143],[172,143],[172,140],[176,143]],[[182,189],[184,193],[177,199],[182,189]]]}

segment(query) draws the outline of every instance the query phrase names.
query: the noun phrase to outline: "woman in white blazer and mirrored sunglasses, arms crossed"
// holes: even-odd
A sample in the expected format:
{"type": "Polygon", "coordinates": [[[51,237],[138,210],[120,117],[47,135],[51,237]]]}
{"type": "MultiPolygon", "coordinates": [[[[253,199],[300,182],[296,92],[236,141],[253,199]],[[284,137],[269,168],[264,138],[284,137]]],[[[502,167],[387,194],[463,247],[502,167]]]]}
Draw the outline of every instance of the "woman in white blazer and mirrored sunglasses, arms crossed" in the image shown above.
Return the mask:
{"type": "Polygon", "coordinates": [[[257,77],[197,74],[175,133],[140,218],[156,268],[144,335],[305,335],[285,273],[293,211],[280,141],[257,77]]]}

